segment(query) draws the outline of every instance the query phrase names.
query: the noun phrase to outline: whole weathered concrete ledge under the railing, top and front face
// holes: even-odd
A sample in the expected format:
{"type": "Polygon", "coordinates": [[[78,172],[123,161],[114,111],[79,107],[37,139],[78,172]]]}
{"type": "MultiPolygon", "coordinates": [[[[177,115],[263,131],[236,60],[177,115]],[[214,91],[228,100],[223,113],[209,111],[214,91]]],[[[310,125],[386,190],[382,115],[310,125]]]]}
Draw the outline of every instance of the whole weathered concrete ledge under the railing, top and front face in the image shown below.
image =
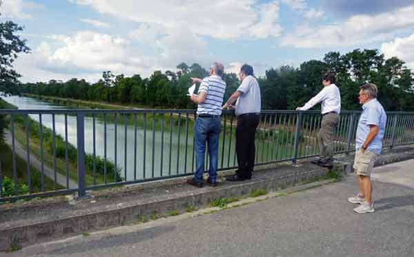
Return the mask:
{"type": "MultiPolygon", "coordinates": [[[[414,158],[414,147],[387,152],[380,156],[376,165],[408,158],[414,158]]],[[[352,160],[352,156],[342,157],[337,168],[346,172],[352,160]]],[[[308,161],[301,161],[297,167],[279,163],[259,167],[251,181],[228,183],[221,178],[219,187],[199,189],[186,185],[184,178],[178,178],[153,183],[152,187],[140,185],[103,190],[88,200],[68,201],[60,197],[25,205],[0,205],[0,250],[12,244],[32,245],[119,226],[142,216],[164,216],[172,210],[184,212],[188,206],[204,207],[217,198],[240,197],[255,189],[277,191],[315,181],[327,172],[308,161]]]]}

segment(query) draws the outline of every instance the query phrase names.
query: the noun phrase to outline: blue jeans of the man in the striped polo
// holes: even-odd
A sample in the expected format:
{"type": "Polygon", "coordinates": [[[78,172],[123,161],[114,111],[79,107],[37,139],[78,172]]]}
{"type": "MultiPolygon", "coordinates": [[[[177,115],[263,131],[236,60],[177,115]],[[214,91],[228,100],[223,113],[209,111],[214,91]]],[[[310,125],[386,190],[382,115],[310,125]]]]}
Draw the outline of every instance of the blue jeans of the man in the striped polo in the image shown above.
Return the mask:
{"type": "Polygon", "coordinates": [[[219,136],[221,131],[220,116],[197,117],[194,124],[195,139],[195,179],[203,181],[204,156],[206,154],[206,142],[208,155],[210,156],[210,168],[208,176],[211,181],[217,178],[217,166],[219,165],[219,136]]]}

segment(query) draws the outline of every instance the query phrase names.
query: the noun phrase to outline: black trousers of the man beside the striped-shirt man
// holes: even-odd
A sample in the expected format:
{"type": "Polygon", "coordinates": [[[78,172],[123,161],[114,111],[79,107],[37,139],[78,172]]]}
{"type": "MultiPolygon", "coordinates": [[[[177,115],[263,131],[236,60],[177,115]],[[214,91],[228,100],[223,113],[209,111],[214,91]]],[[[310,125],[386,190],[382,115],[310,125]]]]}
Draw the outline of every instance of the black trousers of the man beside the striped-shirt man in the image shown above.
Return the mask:
{"type": "Polygon", "coordinates": [[[255,166],[255,133],[259,125],[258,114],[244,114],[237,117],[236,154],[240,178],[251,178],[255,166]]]}

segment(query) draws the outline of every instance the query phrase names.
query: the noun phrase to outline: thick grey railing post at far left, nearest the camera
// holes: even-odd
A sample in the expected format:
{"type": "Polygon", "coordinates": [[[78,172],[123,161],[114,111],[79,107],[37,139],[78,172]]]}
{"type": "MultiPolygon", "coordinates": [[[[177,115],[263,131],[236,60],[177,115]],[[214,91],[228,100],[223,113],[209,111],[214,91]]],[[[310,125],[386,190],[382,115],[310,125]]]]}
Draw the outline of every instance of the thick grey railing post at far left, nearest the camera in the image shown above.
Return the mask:
{"type": "Polygon", "coordinates": [[[77,113],[77,172],[78,196],[86,197],[85,189],[85,121],[83,113],[77,113]]]}

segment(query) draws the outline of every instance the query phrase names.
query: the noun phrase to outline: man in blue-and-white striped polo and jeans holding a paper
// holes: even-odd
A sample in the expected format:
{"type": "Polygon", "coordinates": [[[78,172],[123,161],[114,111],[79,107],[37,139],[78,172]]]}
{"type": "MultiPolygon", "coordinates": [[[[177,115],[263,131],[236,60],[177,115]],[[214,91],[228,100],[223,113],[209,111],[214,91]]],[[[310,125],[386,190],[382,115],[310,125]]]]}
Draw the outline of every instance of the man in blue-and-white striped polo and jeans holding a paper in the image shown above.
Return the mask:
{"type": "Polygon", "coordinates": [[[221,104],[226,91],[226,82],[221,79],[223,72],[223,65],[221,63],[214,63],[210,68],[210,76],[203,80],[191,78],[193,83],[201,83],[198,95],[190,96],[191,101],[198,105],[197,119],[194,124],[196,171],[195,176],[188,179],[187,182],[195,187],[203,187],[204,185],[203,173],[206,142],[208,143],[208,155],[210,157],[207,183],[212,187],[217,186],[221,104]]]}

